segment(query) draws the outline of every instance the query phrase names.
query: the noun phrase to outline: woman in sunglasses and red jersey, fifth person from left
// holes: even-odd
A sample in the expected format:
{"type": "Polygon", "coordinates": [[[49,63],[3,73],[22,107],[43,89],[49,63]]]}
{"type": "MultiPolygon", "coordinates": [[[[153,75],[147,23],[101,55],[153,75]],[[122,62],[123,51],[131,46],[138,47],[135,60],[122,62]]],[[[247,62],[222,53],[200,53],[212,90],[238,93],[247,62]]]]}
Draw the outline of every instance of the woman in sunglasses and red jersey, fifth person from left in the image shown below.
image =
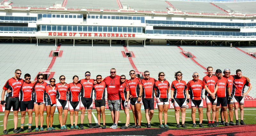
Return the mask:
{"type": "Polygon", "coordinates": [[[57,89],[57,95],[56,95],[56,106],[59,112],[59,122],[60,122],[60,129],[61,130],[66,130],[66,121],[68,117],[68,89],[69,89],[69,84],[65,82],[65,76],[61,75],[60,76],[60,82],[56,83],[57,89]],[[62,118],[62,111],[64,116],[62,118]]]}

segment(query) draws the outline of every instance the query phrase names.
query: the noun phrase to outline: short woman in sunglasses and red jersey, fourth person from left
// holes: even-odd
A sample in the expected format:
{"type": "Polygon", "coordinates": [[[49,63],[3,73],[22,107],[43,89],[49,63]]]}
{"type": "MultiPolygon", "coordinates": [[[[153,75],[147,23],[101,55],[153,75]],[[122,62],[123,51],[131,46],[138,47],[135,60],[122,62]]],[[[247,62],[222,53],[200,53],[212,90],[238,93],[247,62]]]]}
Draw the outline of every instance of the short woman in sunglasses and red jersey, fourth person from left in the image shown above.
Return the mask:
{"type": "Polygon", "coordinates": [[[53,122],[53,115],[56,107],[56,93],[57,93],[57,87],[55,85],[55,79],[50,79],[50,84],[46,86],[45,88],[46,92],[46,125],[47,125],[47,131],[55,130],[52,127],[53,122]],[[49,127],[49,120],[50,120],[50,127],[49,127]]]}

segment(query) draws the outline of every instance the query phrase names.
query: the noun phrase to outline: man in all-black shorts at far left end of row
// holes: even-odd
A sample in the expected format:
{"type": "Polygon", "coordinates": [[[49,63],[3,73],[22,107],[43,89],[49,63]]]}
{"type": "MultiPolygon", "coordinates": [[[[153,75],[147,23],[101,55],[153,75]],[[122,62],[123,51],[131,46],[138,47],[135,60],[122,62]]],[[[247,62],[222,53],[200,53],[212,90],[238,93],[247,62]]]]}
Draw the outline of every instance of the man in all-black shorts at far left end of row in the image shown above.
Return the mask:
{"type": "Polygon", "coordinates": [[[23,79],[20,78],[21,75],[21,70],[16,69],[15,70],[15,76],[7,80],[3,87],[2,91],[2,99],[1,99],[1,104],[5,105],[5,110],[4,110],[4,134],[8,134],[6,130],[7,126],[7,121],[8,121],[8,116],[11,111],[11,108],[13,108],[13,122],[14,122],[14,133],[19,133],[17,130],[17,125],[18,125],[18,111],[19,111],[19,106],[20,106],[20,89],[21,85],[23,84],[23,79]],[[4,95],[5,91],[7,91],[6,94],[6,99],[4,101],[4,95]]]}

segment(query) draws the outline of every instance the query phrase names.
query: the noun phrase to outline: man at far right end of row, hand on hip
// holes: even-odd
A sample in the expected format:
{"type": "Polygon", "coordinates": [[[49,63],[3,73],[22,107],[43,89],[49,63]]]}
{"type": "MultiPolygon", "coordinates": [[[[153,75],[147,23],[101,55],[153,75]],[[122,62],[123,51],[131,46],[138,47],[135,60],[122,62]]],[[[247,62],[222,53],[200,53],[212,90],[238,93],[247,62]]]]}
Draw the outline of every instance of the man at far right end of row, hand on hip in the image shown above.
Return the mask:
{"type": "Polygon", "coordinates": [[[236,125],[239,125],[238,122],[238,104],[240,109],[241,121],[240,125],[245,125],[244,119],[244,97],[249,93],[252,89],[252,85],[250,82],[246,80],[246,78],[242,77],[242,71],[240,69],[236,70],[236,78],[233,81],[233,89],[232,94],[234,95],[234,104],[235,104],[235,117],[236,117],[236,125]],[[244,93],[245,86],[249,86],[247,91],[244,93]]]}

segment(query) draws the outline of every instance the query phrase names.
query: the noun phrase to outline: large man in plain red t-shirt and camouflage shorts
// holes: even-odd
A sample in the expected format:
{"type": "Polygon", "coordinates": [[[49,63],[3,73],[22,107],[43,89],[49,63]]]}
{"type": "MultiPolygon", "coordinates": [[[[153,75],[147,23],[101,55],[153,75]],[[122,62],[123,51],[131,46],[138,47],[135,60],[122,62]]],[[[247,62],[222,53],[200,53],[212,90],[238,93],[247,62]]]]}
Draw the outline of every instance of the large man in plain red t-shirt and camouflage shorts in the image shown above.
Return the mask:
{"type": "Polygon", "coordinates": [[[116,75],[116,69],[110,69],[110,76],[107,76],[103,82],[106,83],[108,93],[108,107],[111,111],[111,117],[113,125],[110,128],[116,129],[119,120],[120,110],[120,98],[119,98],[119,87],[120,87],[120,76],[116,75]]]}

